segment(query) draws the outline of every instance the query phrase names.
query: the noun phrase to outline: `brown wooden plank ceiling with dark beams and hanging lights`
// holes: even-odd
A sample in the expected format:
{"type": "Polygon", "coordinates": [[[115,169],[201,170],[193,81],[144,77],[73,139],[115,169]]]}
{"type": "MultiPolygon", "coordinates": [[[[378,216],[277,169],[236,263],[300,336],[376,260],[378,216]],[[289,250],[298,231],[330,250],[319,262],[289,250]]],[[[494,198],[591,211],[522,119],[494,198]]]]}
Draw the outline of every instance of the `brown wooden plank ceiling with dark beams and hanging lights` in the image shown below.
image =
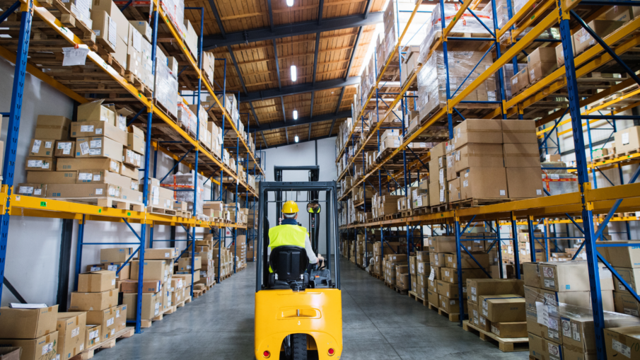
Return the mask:
{"type": "MultiPolygon", "coordinates": [[[[226,59],[226,91],[239,96],[240,118],[250,132],[261,130],[256,149],[264,149],[293,144],[296,136],[303,142],[337,133],[384,3],[186,0],[185,6],[205,8],[204,50],[226,59]]],[[[199,11],[186,10],[185,18],[199,32],[199,11]]],[[[214,86],[222,91],[224,62],[215,66],[214,86]]]]}

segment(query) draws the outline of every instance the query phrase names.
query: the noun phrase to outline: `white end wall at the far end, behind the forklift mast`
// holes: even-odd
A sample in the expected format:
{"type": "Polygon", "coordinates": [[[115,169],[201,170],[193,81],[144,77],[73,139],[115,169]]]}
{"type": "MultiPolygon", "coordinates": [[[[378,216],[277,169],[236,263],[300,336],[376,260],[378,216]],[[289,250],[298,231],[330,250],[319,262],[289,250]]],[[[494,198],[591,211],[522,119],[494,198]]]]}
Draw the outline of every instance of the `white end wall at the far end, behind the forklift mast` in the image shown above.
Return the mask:
{"type": "MultiPolygon", "coordinates": [[[[286,146],[278,146],[276,148],[269,148],[265,150],[266,156],[264,160],[267,163],[264,169],[267,173],[266,181],[274,181],[274,166],[320,166],[320,181],[334,181],[337,178],[336,165],[335,165],[335,137],[321,139],[318,141],[309,141],[302,144],[291,144],[286,146]],[[318,145],[318,151],[316,152],[316,143],[318,145]],[[316,163],[318,158],[318,163],[316,163]]],[[[282,175],[283,181],[308,181],[308,171],[285,171],[282,175]]],[[[306,214],[306,192],[286,192],[282,194],[283,199],[296,200],[298,197],[298,207],[300,212],[298,213],[298,222],[302,226],[309,228],[309,219],[306,214]]],[[[271,194],[270,201],[275,200],[275,194],[271,194]]],[[[320,200],[325,200],[325,194],[320,193],[320,200]]],[[[318,250],[321,253],[326,253],[325,241],[326,241],[326,216],[325,203],[321,202],[322,213],[320,216],[320,236],[318,237],[318,250]]],[[[276,204],[269,203],[269,224],[274,226],[277,223],[276,219],[276,204]]],[[[333,209],[332,209],[333,213],[333,209]]],[[[333,239],[333,234],[330,234],[333,239]]]]}

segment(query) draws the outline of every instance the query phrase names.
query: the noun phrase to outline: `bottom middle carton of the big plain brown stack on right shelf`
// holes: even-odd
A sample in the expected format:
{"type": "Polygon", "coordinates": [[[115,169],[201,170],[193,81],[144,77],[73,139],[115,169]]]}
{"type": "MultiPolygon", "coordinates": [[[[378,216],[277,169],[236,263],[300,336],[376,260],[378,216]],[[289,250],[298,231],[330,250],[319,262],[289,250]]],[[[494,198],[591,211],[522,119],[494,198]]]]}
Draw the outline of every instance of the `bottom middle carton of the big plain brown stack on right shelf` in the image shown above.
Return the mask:
{"type": "Polygon", "coordinates": [[[508,198],[504,168],[467,168],[460,173],[462,199],[508,198]]]}

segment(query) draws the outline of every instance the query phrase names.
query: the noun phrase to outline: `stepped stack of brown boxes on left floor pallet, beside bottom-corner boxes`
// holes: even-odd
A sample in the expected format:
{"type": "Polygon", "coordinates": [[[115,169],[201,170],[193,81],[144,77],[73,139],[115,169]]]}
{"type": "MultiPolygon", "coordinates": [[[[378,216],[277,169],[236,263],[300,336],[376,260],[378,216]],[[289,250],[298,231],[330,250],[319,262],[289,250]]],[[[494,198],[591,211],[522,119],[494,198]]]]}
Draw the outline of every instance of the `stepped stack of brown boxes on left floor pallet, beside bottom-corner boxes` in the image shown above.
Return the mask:
{"type": "Polygon", "coordinates": [[[115,272],[100,270],[78,275],[78,291],[71,293],[71,311],[86,312],[86,323],[100,325],[100,341],[113,339],[127,325],[127,304],[118,306],[115,272]]]}

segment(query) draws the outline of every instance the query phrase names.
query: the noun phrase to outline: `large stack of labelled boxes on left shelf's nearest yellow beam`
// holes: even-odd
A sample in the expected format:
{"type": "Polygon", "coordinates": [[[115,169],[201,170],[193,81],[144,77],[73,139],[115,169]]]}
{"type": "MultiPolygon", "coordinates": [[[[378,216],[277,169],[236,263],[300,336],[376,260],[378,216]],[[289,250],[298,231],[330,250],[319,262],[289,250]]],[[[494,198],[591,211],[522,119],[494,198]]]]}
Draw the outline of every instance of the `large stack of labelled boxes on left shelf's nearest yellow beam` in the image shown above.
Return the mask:
{"type": "Polygon", "coordinates": [[[39,115],[18,194],[144,211],[138,191],[144,133],[127,128],[131,114],[96,100],[78,106],[77,122],[39,115]]]}

